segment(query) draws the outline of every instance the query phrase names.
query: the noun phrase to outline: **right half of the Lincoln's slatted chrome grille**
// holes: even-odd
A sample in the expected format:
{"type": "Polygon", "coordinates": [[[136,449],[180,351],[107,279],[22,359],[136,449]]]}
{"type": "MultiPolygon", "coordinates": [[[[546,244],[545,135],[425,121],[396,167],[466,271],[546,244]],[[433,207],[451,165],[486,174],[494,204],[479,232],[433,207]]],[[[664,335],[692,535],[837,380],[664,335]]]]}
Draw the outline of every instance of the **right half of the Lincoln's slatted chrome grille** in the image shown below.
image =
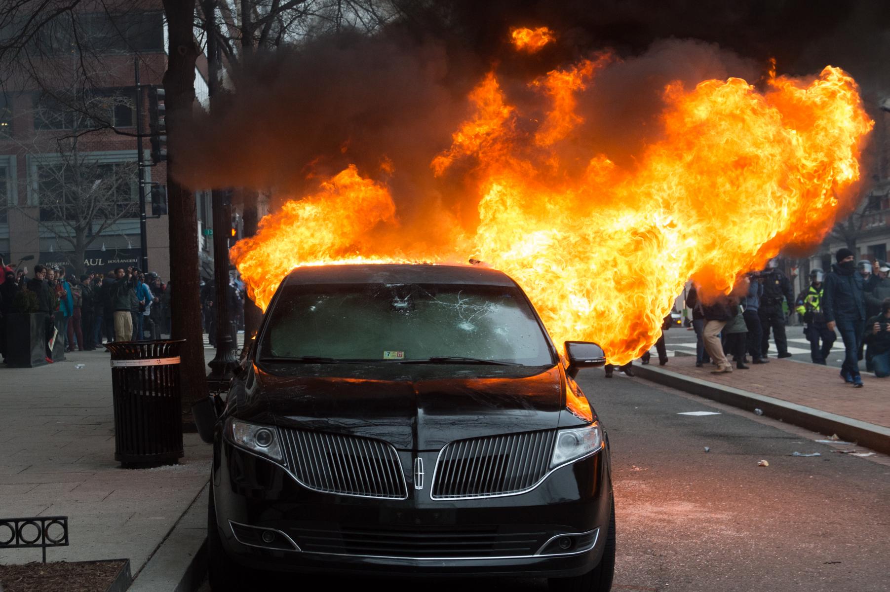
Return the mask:
{"type": "Polygon", "coordinates": [[[547,474],[553,429],[457,440],[436,461],[433,499],[482,498],[521,493],[547,474]]]}

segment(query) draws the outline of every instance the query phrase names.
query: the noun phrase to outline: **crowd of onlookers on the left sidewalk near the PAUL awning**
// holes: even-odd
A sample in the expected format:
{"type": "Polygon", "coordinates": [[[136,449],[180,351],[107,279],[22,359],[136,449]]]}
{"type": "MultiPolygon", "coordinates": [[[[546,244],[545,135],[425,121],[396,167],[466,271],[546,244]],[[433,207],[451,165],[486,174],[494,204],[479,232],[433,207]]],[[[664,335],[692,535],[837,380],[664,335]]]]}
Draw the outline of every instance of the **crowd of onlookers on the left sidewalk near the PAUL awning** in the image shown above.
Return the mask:
{"type": "MultiPolygon", "coordinates": [[[[12,269],[2,260],[0,269],[0,323],[15,312],[47,313],[48,363],[53,362],[53,337],[62,340],[66,351],[89,351],[101,347],[103,340],[159,340],[162,333],[170,333],[170,284],[157,274],[117,268],[104,276],[78,277],[64,267],[36,265],[33,276],[27,277],[25,269],[12,269]],[[25,291],[33,292],[36,309],[17,309],[17,300],[27,301],[17,299],[25,291]]],[[[5,341],[0,339],[0,348],[5,341]]]]}

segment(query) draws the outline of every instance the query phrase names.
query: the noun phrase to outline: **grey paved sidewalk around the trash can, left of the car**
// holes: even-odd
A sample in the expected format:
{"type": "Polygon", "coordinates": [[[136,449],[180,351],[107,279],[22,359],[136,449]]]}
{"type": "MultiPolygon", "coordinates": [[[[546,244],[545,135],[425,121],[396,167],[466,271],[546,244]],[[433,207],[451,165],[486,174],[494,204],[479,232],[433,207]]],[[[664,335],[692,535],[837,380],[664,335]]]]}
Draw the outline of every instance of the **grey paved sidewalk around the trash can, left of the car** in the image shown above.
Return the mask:
{"type": "MultiPolygon", "coordinates": [[[[109,357],[0,364],[0,518],[69,516],[70,546],[47,549],[47,561],[129,558],[135,576],[204,488],[212,450],[185,434],[179,465],[120,468],[109,357]]],[[[40,558],[39,548],[0,550],[3,564],[40,558]]]]}

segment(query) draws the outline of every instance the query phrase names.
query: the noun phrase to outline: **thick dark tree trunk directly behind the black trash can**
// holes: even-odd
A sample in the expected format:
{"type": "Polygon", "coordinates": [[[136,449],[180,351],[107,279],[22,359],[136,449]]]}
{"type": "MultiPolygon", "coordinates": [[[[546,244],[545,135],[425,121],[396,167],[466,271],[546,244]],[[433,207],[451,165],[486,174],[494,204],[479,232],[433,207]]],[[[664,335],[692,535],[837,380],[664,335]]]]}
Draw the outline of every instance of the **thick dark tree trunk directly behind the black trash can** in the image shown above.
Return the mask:
{"type": "Polygon", "coordinates": [[[177,136],[191,116],[195,102],[195,62],[198,47],[192,24],[195,0],[164,0],[169,46],[164,74],[167,128],[167,204],[169,208],[172,339],[186,340],[182,348],[182,410],[207,396],[201,303],[198,298],[198,212],[195,196],[174,178],[177,136]]]}

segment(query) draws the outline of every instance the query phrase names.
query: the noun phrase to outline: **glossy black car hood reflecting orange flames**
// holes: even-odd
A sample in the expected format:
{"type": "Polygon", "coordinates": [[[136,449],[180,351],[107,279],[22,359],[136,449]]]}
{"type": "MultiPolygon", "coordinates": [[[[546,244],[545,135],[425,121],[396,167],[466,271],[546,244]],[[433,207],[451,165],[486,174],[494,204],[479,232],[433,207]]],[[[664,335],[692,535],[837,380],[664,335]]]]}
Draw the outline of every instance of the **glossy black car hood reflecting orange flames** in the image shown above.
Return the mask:
{"type": "Polygon", "coordinates": [[[565,408],[557,365],[263,365],[250,374],[242,419],[378,438],[400,450],[556,428],[565,408]]]}

